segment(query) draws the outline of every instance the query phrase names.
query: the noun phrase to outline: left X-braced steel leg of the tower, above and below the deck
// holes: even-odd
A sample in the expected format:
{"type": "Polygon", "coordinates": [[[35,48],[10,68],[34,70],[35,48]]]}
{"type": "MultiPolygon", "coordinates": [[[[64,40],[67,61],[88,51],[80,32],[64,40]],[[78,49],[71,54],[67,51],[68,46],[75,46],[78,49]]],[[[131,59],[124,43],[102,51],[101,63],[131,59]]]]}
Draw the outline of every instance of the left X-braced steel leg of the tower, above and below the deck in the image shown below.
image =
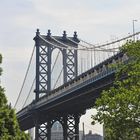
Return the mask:
{"type": "MultiPolygon", "coordinates": [[[[45,96],[51,90],[51,51],[50,45],[43,44],[40,39],[40,32],[37,29],[35,40],[36,46],[36,87],[35,101],[45,96]]],[[[50,31],[46,38],[50,37],[50,31]]],[[[35,140],[51,140],[51,122],[47,121],[40,125],[40,117],[35,121],[35,140]]]]}

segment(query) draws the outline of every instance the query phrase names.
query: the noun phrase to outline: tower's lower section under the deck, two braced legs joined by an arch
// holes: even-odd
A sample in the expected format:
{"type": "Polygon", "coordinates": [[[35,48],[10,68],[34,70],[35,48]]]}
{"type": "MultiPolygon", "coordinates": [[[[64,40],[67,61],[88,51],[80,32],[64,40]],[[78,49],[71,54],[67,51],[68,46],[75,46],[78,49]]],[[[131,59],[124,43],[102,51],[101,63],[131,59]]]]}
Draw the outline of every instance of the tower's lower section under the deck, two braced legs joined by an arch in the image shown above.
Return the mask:
{"type": "MultiPolygon", "coordinates": [[[[40,125],[35,122],[35,140],[51,140],[52,125],[59,121],[63,127],[63,140],[79,140],[79,120],[80,114],[64,114],[62,117],[54,117],[40,125]]],[[[39,118],[36,120],[39,120],[39,118]]]]}

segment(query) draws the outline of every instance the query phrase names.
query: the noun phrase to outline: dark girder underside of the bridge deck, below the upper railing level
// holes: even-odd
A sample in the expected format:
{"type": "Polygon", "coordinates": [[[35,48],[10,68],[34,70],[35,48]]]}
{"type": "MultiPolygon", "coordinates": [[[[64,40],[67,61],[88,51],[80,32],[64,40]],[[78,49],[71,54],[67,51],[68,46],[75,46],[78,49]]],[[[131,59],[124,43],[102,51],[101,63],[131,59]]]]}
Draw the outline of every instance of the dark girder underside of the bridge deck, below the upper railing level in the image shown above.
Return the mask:
{"type": "Polygon", "coordinates": [[[46,122],[50,117],[55,119],[65,114],[83,114],[86,109],[94,105],[102,90],[112,85],[113,80],[114,72],[50,102],[30,104],[21,111],[21,115],[17,115],[21,129],[27,130],[35,126],[36,112],[40,116],[39,124],[46,122]]]}

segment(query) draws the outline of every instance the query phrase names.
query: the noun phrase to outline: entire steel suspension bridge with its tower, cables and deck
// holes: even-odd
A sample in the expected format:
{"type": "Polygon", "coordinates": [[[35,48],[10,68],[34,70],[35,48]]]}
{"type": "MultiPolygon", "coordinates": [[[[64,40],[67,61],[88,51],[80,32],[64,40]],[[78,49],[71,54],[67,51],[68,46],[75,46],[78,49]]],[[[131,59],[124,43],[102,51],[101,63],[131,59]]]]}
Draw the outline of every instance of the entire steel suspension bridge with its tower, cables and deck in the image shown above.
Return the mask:
{"type": "Polygon", "coordinates": [[[113,85],[117,68],[126,62],[120,51],[140,32],[104,44],[91,44],[74,32],[53,36],[37,29],[21,90],[15,103],[21,130],[35,128],[35,140],[51,140],[51,128],[59,122],[64,140],[79,140],[79,120],[94,106],[101,92],[113,85]]]}

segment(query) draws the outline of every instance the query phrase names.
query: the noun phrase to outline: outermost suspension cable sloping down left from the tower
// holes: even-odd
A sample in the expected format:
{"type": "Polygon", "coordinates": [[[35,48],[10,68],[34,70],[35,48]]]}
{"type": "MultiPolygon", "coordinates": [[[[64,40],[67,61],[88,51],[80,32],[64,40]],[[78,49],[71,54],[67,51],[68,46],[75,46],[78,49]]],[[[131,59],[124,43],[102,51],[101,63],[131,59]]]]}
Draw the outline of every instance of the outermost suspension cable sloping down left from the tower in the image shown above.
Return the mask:
{"type": "Polygon", "coordinates": [[[19,98],[20,98],[20,96],[21,96],[21,93],[22,93],[22,90],[23,90],[23,87],[24,87],[24,84],[25,84],[25,81],[26,81],[26,78],[27,78],[27,75],[28,75],[28,72],[29,72],[29,69],[30,69],[30,65],[31,65],[31,62],[32,62],[32,58],[33,58],[33,55],[34,55],[34,50],[35,50],[35,46],[33,47],[33,50],[32,50],[32,53],[31,53],[31,57],[30,57],[30,60],[29,60],[29,64],[28,64],[28,67],[27,67],[27,70],[26,70],[26,73],[25,73],[25,77],[24,77],[24,80],[23,80],[23,83],[22,83],[20,92],[19,92],[19,94],[18,94],[18,97],[17,97],[17,99],[16,99],[14,108],[16,107],[16,105],[17,105],[17,103],[18,103],[18,100],[19,100],[19,98]]]}

